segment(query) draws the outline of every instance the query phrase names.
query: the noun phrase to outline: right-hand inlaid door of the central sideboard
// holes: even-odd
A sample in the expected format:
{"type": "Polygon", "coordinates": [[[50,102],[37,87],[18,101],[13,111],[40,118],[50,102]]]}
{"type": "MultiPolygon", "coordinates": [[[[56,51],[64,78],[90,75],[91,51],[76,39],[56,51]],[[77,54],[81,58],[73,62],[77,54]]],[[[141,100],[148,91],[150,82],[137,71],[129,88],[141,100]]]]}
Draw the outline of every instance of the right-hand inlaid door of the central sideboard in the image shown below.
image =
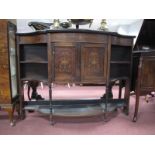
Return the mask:
{"type": "Polygon", "coordinates": [[[105,44],[84,44],[81,46],[82,83],[105,83],[107,66],[105,44]]]}

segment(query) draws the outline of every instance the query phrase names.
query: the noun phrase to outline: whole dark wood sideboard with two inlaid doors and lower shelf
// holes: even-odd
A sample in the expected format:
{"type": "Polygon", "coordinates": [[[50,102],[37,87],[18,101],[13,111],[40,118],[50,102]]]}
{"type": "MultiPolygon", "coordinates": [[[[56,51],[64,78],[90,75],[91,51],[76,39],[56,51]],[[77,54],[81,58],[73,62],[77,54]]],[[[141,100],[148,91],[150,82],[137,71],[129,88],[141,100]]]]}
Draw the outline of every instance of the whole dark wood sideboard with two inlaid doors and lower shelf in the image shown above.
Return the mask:
{"type": "Polygon", "coordinates": [[[21,112],[35,110],[61,116],[106,113],[111,106],[128,111],[133,36],[94,30],[46,30],[18,33],[21,112]],[[25,81],[38,80],[49,87],[46,101],[23,100],[25,81]],[[125,95],[108,97],[111,81],[125,80],[125,95]],[[51,83],[105,84],[106,97],[93,100],[53,100],[51,83]],[[39,109],[38,109],[39,106],[39,109]],[[45,108],[46,107],[46,108],[45,108]]]}

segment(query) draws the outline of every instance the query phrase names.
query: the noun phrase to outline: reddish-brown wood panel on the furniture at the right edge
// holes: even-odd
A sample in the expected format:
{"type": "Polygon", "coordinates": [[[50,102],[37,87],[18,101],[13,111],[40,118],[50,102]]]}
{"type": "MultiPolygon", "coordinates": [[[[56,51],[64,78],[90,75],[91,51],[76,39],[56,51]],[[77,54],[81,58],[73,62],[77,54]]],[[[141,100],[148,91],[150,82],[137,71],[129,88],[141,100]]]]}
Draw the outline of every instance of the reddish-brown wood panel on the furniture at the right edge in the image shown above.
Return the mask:
{"type": "Polygon", "coordinates": [[[155,57],[145,57],[142,63],[141,87],[155,88],[155,57]]]}

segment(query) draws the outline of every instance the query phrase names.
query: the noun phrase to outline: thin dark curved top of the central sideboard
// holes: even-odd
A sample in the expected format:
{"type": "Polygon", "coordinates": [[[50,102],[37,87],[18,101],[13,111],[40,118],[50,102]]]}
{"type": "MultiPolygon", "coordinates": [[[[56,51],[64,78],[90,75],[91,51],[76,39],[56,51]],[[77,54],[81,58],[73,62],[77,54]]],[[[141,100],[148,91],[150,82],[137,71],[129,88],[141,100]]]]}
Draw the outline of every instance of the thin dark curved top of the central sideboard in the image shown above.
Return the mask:
{"type": "Polygon", "coordinates": [[[127,37],[134,38],[135,36],[121,35],[117,32],[110,31],[101,31],[101,30],[88,30],[88,29],[51,29],[51,30],[39,30],[35,32],[29,33],[17,33],[19,36],[29,36],[29,35],[37,35],[37,34],[46,34],[46,33],[87,33],[87,34],[104,34],[118,37],[127,37]]]}

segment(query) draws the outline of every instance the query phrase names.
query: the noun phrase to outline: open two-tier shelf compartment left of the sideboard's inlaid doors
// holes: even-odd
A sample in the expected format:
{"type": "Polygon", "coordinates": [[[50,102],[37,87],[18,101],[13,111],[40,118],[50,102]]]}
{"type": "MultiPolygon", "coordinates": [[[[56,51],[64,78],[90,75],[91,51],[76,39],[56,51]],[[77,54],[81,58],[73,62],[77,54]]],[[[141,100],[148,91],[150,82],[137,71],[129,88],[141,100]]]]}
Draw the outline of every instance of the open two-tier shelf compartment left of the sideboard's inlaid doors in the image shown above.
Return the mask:
{"type": "Polygon", "coordinates": [[[47,81],[47,44],[22,44],[19,48],[21,80],[47,81]]]}

